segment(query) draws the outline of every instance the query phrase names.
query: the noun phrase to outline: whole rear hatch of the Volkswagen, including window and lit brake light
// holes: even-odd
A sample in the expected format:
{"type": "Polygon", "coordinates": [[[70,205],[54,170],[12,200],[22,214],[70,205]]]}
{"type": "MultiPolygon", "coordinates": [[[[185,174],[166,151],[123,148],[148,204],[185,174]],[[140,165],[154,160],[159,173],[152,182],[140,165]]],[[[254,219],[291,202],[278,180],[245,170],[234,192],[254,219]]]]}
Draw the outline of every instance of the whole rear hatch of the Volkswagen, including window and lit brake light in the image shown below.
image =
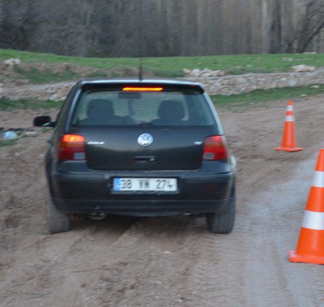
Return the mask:
{"type": "Polygon", "coordinates": [[[145,83],[83,89],[69,130],[85,136],[95,170],[199,169],[219,132],[200,87],[145,83]]]}

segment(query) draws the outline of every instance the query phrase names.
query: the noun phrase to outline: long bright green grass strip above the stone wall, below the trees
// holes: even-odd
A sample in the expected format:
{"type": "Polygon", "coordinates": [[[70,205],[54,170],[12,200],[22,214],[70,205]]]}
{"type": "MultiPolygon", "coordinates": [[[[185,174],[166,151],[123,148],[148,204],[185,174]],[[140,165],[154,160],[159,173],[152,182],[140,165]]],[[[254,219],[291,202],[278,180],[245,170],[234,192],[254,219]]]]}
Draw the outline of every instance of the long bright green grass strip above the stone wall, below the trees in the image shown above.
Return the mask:
{"type": "MultiPolygon", "coordinates": [[[[100,69],[116,67],[138,67],[136,58],[85,58],[68,57],[47,53],[35,53],[12,49],[0,49],[0,60],[19,58],[23,62],[47,62],[47,63],[71,63],[79,66],[88,66],[100,69]]],[[[324,53],[321,54],[256,54],[256,55],[215,55],[196,57],[158,57],[144,58],[144,71],[149,70],[156,76],[181,77],[183,68],[204,69],[206,67],[217,70],[223,69],[232,74],[248,72],[286,72],[291,71],[294,65],[307,64],[312,66],[324,66],[324,53]],[[288,59],[292,59],[288,61],[288,59]]],[[[33,73],[32,73],[33,74],[33,73]]],[[[51,73],[43,78],[50,79],[51,73]]],[[[145,75],[145,73],[144,73],[145,75]]],[[[57,81],[66,78],[63,75],[52,75],[57,81]]],[[[39,79],[31,75],[32,79],[39,79]]],[[[31,79],[31,80],[32,80],[31,79]]],[[[53,81],[53,79],[51,79],[53,81]]]]}

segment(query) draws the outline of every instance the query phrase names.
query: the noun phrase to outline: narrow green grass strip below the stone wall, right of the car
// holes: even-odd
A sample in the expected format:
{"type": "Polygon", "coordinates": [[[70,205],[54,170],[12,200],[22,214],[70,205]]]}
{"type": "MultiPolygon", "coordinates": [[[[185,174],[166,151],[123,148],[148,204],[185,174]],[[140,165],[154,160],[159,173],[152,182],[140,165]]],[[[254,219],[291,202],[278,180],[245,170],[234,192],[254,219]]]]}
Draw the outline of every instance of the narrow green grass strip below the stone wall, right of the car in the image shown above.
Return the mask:
{"type": "Polygon", "coordinates": [[[283,99],[290,100],[303,97],[301,95],[313,96],[323,93],[324,85],[319,85],[318,89],[311,88],[311,86],[286,87],[270,90],[255,90],[249,93],[230,96],[211,95],[211,98],[216,107],[242,107],[250,103],[283,99]]]}

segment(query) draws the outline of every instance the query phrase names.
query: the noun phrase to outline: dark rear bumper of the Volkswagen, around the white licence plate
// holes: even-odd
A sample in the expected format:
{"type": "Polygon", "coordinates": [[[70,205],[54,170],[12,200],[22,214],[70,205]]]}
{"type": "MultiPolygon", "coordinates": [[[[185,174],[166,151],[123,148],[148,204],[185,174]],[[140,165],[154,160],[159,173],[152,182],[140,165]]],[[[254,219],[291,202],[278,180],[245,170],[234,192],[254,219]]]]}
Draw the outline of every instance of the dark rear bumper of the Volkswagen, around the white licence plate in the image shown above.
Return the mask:
{"type": "MultiPolygon", "coordinates": [[[[76,165],[76,164],[75,164],[76,165]]],[[[50,174],[51,196],[65,213],[103,212],[137,216],[221,213],[234,190],[231,162],[204,163],[193,171],[90,171],[75,167],[50,174]],[[177,193],[116,193],[115,177],[176,178],[177,193]]]]}

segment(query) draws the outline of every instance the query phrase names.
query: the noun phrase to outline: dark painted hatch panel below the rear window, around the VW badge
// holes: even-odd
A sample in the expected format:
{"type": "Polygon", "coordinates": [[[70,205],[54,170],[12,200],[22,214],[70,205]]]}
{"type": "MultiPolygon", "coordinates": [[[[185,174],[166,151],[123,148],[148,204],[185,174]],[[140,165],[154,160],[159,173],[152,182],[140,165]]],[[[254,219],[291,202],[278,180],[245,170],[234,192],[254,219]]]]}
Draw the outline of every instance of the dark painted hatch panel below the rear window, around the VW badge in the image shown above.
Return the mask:
{"type": "Polygon", "coordinates": [[[189,170],[199,169],[206,128],[104,128],[83,129],[87,142],[88,166],[96,170],[189,170]],[[151,135],[152,143],[138,141],[151,135]]]}

